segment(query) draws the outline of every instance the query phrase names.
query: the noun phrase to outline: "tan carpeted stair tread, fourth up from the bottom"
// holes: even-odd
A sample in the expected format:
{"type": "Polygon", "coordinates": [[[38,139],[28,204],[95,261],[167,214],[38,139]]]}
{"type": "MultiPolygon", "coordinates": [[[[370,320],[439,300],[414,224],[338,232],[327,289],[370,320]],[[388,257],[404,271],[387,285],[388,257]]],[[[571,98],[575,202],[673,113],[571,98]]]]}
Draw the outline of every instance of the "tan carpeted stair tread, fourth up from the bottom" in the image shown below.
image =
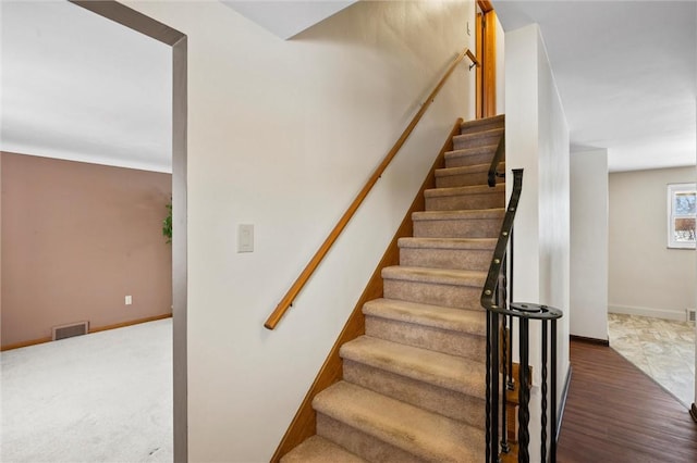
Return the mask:
{"type": "Polygon", "coordinates": [[[477,311],[420,304],[396,299],[374,299],[363,306],[367,316],[394,320],[470,335],[486,335],[486,314],[477,311]]]}

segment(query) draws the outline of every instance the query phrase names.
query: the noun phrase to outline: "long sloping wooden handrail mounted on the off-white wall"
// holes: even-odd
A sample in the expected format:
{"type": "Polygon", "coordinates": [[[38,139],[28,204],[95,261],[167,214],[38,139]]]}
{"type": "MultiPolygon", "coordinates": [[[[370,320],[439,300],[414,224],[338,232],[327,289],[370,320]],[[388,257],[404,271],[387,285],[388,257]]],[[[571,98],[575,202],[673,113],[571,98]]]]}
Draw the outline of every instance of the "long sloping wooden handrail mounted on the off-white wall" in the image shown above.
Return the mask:
{"type": "Polygon", "coordinates": [[[426,101],[424,101],[424,103],[421,104],[421,108],[418,110],[416,115],[412,118],[412,122],[409,122],[409,125],[406,126],[406,128],[404,129],[400,138],[396,140],[392,149],[384,157],[380,165],[378,165],[378,167],[375,170],[375,172],[372,173],[372,175],[370,176],[366,185],[360,189],[356,198],[353,200],[353,202],[351,203],[346,212],[344,212],[344,214],[341,216],[341,218],[339,220],[334,228],[331,230],[327,239],[325,239],[325,242],[322,242],[322,245],[319,247],[317,252],[315,252],[315,255],[313,255],[313,259],[310,259],[310,261],[307,263],[303,272],[299,274],[297,279],[295,280],[295,283],[293,283],[293,286],[291,286],[291,288],[288,290],[283,299],[281,299],[281,302],[279,302],[279,304],[276,306],[271,315],[269,315],[266,323],[264,324],[265,328],[268,328],[268,329],[276,328],[276,325],[278,325],[278,323],[283,317],[283,315],[285,315],[285,312],[288,312],[289,308],[293,304],[293,300],[295,300],[295,297],[297,297],[297,295],[301,292],[301,290],[303,289],[303,287],[305,286],[309,277],[313,275],[315,270],[317,270],[321,261],[325,259],[325,256],[327,255],[327,252],[329,252],[329,249],[337,241],[337,239],[339,238],[339,235],[341,235],[343,229],[348,224],[348,221],[351,221],[353,215],[356,213],[356,211],[363,203],[363,200],[368,196],[368,193],[370,192],[375,184],[378,182],[380,176],[382,176],[382,173],[388,167],[392,159],[394,159],[394,157],[400,151],[400,149],[402,148],[406,139],[409,137],[409,135],[412,135],[412,132],[414,132],[414,127],[416,127],[416,124],[418,124],[418,122],[421,120],[421,116],[424,115],[426,110],[428,110],[428,108],[431,105],[431,103],[433,102],[433,99],[436,98],[440,89],[443,87],[443,85],[445,85],[448,77],[450,77],[450,75],[455,70],[455,66],[457,66],[457,64],[460,64],[460,62],[465,57],[468,57],[475,65],[477,66],[479,65],[479,61],[474,55],[474,53],[469,51],[468,48],[465,48],[457,55],[457,58],[453,60],[453,62],[448,67],[448,71],[445,71],[445,74],[443,74],[443,77],[440,79],[436,88],[433,88],[433,91],[431,91],[431,93],[428,96],[426,101]]]}

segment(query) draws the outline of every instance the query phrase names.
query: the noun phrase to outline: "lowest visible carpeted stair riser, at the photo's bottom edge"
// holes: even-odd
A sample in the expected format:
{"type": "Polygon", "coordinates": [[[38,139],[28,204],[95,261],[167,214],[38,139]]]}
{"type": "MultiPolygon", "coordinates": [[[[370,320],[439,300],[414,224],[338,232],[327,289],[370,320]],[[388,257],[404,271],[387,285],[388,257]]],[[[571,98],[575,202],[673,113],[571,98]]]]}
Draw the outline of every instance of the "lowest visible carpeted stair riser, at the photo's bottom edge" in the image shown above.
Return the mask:
{"type": "Polygon", "coordinates": [[[317,434],[368,461],[386,463],[424,462],[424,460],[405,450],[387,443],[323,413],[317,413],[317,434]]]}

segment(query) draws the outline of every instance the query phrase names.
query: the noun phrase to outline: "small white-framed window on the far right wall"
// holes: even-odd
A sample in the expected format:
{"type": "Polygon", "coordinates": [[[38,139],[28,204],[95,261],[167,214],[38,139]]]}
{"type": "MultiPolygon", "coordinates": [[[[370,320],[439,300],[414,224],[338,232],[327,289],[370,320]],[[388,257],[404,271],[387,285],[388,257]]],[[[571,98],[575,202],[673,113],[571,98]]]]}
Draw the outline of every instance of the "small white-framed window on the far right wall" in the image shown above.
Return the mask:
{"type": "Polygon", "coordinates": [[[668,247],[695,249],[696,184],[668,185],[668,247]]]}

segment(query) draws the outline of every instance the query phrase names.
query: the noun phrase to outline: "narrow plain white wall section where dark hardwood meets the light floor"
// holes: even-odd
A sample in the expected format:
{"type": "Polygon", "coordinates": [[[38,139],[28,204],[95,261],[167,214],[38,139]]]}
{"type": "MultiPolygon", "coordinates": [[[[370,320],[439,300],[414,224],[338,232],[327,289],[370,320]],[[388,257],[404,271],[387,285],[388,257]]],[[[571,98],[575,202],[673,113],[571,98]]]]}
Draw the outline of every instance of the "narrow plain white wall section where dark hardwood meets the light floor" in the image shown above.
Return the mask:
{"type": "Polygon", "coordinates": [[[608,150],[571,154],[570,333],[608,340],[608,150]]]}

